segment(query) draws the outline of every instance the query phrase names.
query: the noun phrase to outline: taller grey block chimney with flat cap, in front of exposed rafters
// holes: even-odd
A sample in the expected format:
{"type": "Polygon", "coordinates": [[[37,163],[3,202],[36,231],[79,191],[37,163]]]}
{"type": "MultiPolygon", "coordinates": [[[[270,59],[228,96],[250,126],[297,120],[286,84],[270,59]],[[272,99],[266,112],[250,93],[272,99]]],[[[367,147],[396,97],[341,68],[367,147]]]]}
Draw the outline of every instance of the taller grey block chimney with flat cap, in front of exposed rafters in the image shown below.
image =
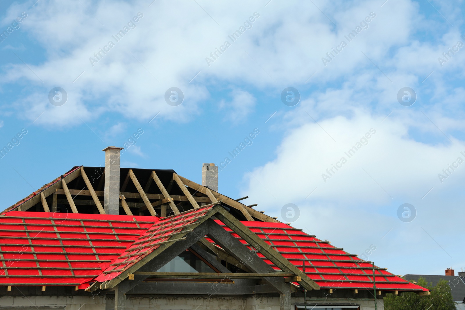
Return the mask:
{"type": "Polygon", "coordinates": [[[105,198],[106,214],[120,214],[120,151],[122,147],[108,146],[105,152],[105,198]]]}

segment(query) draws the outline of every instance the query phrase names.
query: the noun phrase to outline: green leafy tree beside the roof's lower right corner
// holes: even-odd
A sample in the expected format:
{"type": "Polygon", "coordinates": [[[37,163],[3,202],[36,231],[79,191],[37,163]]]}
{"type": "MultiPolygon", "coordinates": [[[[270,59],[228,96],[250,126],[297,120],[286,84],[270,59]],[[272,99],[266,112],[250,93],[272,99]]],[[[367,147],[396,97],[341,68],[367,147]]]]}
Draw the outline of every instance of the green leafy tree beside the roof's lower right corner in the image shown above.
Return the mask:
{"type": "MultiPolygon", "coordinates": [[[[411,280],[413,282],[413,280],[411,280]]],[[[402,293],[401,295],[386,294],[385,310],[455,310],[451,287],[446,280],[440,280],[436,286],[428,284],[420,277],[419,286],[431,290],[431,295],[419,296],[417,293],[402,293]]]]}

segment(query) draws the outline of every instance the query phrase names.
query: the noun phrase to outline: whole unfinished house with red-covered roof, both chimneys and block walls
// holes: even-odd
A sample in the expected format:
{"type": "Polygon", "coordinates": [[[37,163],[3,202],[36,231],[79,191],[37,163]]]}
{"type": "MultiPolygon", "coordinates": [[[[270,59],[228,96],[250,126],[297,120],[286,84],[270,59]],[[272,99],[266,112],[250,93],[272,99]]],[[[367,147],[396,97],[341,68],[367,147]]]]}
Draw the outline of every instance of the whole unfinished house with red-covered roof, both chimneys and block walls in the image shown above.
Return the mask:
{"type": "Polygon", "coordinates": [[[120,168],[120,150],[1,212],[0,309],[382,310],[386,293],[429,294],[220,194],[213,164],[199,185],[120,168]]]}

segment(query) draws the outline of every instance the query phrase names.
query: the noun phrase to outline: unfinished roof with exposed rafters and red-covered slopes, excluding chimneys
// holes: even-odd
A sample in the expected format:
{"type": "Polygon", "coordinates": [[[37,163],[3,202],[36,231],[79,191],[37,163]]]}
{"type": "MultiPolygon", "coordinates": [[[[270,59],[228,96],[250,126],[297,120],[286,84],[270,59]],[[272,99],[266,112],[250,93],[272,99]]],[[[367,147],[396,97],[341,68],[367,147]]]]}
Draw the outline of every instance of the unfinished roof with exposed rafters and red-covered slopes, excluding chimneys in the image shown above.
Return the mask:
{"type": "Polygon", "coordinates": [[[306,290],[372,290],[374,272],[378,290],[427,291],[172,170],[121,168],[121,215],[106,214],[104,171],[76,166],[1,213],[0,284],[112,289],[173,277],[156,270],[189,250],[217,273],[178,279],[227,274],[279,288],[284,277],[306,290]],[[234,269],[220,271],[202,251],[234,269]]]}

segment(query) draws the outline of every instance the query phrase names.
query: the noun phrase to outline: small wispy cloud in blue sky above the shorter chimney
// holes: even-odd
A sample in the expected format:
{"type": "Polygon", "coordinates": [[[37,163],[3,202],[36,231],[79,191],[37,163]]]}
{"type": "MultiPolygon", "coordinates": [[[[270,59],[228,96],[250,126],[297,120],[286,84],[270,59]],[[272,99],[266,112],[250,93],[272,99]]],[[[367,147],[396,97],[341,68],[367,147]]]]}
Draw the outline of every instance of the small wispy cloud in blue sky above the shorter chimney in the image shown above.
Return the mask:
{"type": "Polygon", "coordinates": [[[233,122],[244,120],[247,115],[253,111],[257,100],[250,92],[240,89],[235,89],[231,92],[233,99],[230,102],[221,100],[219,108],[226,110],[225,119],[230,119],[233,122]]]}

